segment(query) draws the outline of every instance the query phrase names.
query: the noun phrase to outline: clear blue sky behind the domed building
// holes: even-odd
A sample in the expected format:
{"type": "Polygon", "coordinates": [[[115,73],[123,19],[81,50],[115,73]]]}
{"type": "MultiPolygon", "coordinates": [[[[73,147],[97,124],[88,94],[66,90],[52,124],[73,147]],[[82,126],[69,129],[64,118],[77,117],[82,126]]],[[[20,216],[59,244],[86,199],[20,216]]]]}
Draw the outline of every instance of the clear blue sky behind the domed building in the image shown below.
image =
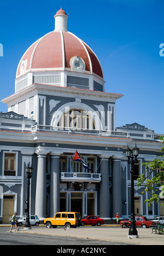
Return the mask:
{"type": "MultiPolygon", "coordinates": [[[[0,0],[0,99],[14,94],[22,55],[54,30],[61,5],[69,15],[68,31],[101,62],[106,91],[124,95],[116,101],[116,127],[136,122],[164,133],[163,0],[0,0]]],[[[0,103],[0,111],[7,110],[0,103]]]]}

